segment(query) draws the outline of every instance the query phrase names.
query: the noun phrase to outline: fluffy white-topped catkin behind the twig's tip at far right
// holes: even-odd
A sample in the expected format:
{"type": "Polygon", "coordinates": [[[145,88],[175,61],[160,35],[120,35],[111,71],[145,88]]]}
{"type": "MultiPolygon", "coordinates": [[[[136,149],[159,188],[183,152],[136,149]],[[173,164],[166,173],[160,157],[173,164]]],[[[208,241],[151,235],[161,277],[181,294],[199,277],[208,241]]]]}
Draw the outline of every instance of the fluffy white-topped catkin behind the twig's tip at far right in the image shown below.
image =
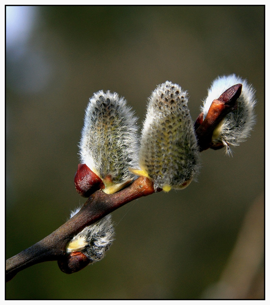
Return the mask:
{"type": "Polygon", "coordinates": [[[212,142],[223,143],[226,152],[231,154],[230,145],[239,145],[245,141],[255,124],[254,106],[255,90],[246,80],[235,74],[216,78],[208,89],[208,96],[204,101],[202,111],[207,115],[212,101],[233,85],[242,84],[242,93],[237,99],[237,109],[228,113],[213,132],[212,142]]]}

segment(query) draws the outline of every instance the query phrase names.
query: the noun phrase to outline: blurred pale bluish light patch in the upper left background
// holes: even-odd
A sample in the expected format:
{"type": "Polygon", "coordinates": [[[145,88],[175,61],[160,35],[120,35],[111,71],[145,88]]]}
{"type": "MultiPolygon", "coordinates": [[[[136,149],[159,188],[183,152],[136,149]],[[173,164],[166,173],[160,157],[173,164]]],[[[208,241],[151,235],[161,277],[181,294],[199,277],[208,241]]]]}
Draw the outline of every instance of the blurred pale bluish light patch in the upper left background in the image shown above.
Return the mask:
{"type": "MultiPolygon", "coordinates": [[[[6,77],[13,90],[36,93],[44,89],[52,65],[44,56],[43,40],[32,35],[39,30],[37,6],[6,6],[6,77]]],[[[42,34],[40,34],[42,35],[42,34]]]]}

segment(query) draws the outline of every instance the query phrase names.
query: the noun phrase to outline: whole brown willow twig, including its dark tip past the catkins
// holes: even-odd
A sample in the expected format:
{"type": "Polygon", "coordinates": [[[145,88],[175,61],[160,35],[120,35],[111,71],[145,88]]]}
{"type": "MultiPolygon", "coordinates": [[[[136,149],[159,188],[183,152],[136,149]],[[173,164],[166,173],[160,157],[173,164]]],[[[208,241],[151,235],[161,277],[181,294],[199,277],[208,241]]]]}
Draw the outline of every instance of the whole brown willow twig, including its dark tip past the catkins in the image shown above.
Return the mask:
{"type": "MultiPolygon", "coordinates": [[[[232,86],[212,102],[204,120],[202,113],[198,116],[194,129],[200,151],[211,148],[214,129],[227,113],[237,107],[236,100],[241,90],[241,84],[232,86]]],[[[6,261],[6,281],[32,265],[43,261],[58,261],[65,257],[67,242],[84,227],[95,223],[122,205],[154,192],[152,181],[145,177],[137,178],[125,189],[114,194],[105,194],[102,190],[96,191],[88,198],[81,210],[56,231],[9,258],[6,261]]]]}

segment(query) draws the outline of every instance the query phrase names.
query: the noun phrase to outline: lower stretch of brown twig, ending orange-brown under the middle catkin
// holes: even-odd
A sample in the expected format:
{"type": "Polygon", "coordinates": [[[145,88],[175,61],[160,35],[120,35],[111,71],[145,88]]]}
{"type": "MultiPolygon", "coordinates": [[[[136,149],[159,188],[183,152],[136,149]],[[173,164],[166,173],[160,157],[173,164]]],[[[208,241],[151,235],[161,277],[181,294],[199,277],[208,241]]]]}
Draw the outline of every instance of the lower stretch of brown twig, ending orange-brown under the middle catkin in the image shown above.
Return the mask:
{"type": "Polygon", "coordinates": [[[152,182],[139,177],[131,185],[114,194],[96,191],[85,202],[81,210],[30,248],[9,258],[6,261],[6,281],[11,280],[19,271],[43,261],[54,261],[66,255],[67,242],[84,227],[95,223],[122,205],[154,193],[152,182]]]}

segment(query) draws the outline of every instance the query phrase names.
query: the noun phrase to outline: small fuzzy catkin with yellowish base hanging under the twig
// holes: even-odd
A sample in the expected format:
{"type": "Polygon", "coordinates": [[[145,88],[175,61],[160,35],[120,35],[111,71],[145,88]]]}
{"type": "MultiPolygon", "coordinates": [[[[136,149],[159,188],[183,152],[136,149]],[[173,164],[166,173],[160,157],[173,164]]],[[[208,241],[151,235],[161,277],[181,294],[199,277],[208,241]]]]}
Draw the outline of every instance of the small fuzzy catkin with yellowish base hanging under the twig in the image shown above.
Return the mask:
{"type": "Polygon", "coordinates": [[[109,214],[74,236],[67,244],[66,252],[80,251],[91,261],[98,261],[104,257],[113,240],[114,227],[109,214]]]}

